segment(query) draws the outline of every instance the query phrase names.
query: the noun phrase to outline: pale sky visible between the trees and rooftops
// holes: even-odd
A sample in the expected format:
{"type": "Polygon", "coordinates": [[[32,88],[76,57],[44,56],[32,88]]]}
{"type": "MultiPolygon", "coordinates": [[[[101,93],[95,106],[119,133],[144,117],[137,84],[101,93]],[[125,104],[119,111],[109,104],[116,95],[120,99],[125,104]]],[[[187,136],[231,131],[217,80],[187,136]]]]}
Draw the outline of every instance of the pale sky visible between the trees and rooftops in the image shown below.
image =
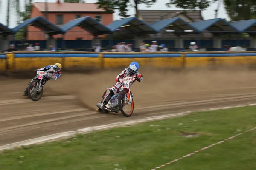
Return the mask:
{"type": "MultiPolygon", "coordinates": [[[[57,2],[57,0],[47,0],[48,2],[57,2]]],[[[86,3],[95,3],[97,0],[85,0],[86,3]]],[[[176,7],[172,7],[172,8],[168,8],[165,4],[168,2],[169,0],[157,0],[157,3],[154,4],[154,6],[150,7],[150,8],[147,8],[145,5],[139,5],[139,9],[152,9],[152,10],[178,10],[180,8],[176,8],[176,7]]],[[[34,0],[33,2],[45,2],[45,0],[34,0]]],[[[20,9],[21,11],[24,10],[24,6],[23,6],[23,3],[24,3],[24,0],[21,0],[20,4],[20,9]]],[[[217,8],[217,3],[213,3],[209,8],[207,8],[206,10],[202,11],[202,15],[203,15],[203,18],[205,20],[207,19],[212,19],[215,17],[215,9],[217,8]]],[[[7,8],[7,0],[2,0],[2,3],[1,3],[1,7],[0,7],[0,23],[6,25],[6,8],[7,8]]],[[[9,28],[14,28],[15,26],[17,26],[17,17],[15,15],[15,10],[14,9],[11,9],[11,17],[10,17],[10,24],[9,24],[9,28]]],[[[134,15],[135,14],[135,11],[134,11],[134,8],[130,8],[129,9],[129,12],[128,14],[130,15],[134,15]]],[[[224,9],[224,5],[221,4],[220,6],[220,9],[219,9],[219,12],[218,12],[218,17],[220,18],[225,18],[227,20],[229,20],[226,12],[225,12],[225,9],[224,9]]],[[[119,16],[118,16],[118,13],[116,12],[114,14],[114,17],[113,17],[114,20],[118,20],[119,19],[119,16]]]]}

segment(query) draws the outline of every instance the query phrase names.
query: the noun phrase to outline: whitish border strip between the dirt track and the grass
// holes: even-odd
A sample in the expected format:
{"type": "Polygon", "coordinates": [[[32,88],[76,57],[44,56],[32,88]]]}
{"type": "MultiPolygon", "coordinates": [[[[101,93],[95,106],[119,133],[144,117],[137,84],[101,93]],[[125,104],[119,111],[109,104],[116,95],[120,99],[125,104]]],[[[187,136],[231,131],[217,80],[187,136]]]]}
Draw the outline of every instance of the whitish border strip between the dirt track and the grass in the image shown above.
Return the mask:
{"type": "MultiPolygon", "coordinates": [[[[256,103],[252,103],[252,104],[248,104],[248,105],[237,105],[237,106],[228,106],[228,107],[222,107],[222,108],[202,109],[199,111],[213,111],[213,110],[230,109],[230,108],[238,108],[238,107],[244,107],[244,106],[255,106],[255,105],[256,105],[256,103]]],[[[148,121],[153,121],[153,120],[157,120],[157,119],[166,119],[166,118],[171,118],[171,117],[184,116],[191,112],[196,112],[196,111],[187,111],[187,112],[173,113],[173,114],[167,114],[167,115],[161,115],[161,116],[152,116],[152,117],[147,117],[147,118],[138,119],[138,120],[117,122],[117,123],[111,123],[108,125],[87,127],[87,128],[73,130],[73,131],[67,131],[67,132],[63,132],[63,133],[56,133],[53,135],[42,136],[42,137],[38,137],[38,138],[34,138],[34,139],[21,141],[21,142],[15,142],[12,144],[6,144],[3,146],[0,146],[0,150],[13,149],[15,147],[27,146],[30,144],[41,144],[44,142],[54,141],[56,139],[69,138],[69,137],[74,136],[79,133],[90,133],[90,132],[93,132],[96,130],[105,130],[105,129],[110,129],[110,128],[114,128],[114,127],[120,127],[123,125],[134,125],[137,123],[148,122],[148,121]]]]}

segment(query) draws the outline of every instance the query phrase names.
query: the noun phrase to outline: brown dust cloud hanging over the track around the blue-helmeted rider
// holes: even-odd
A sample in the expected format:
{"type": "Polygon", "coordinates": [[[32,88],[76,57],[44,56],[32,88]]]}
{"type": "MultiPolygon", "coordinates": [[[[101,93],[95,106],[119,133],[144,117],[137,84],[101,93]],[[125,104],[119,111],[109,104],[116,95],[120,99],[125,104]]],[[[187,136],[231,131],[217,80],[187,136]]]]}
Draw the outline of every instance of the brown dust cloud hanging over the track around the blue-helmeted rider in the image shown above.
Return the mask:
{"type": "MultiPolygon", "coordinates": [[[[75,95],[81,105],[95,110],[103,92],[115,84],[116,75],[121,71],[64,72],[57,81],[47,82],[44,96],[75,95]]],[[[256,71],[244,68],[183,71],[142,68],[140,73],[143,74],[143,82],[134,82],[131,86],[136,107],[256,90],[256,71]]]]}

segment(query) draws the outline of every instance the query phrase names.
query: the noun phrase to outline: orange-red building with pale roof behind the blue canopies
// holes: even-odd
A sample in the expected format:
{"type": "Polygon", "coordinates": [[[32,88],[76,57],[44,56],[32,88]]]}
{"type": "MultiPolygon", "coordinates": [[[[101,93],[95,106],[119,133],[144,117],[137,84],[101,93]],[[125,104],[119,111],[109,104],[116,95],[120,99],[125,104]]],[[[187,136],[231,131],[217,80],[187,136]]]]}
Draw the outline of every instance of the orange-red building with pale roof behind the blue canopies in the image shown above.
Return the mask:
{"type": "MultiPolygon", "coordinates": [[[[80,17],[92,17],[98,20],[103,25],[108,25],[113,22],[113,14],[105,14],[103,9],[98,9],[94,3],[33,3],[30,18],[41,16],[45,17],[47,7],[47,20],[57,26],[63,26],[70,20],[80,17]]],[[[39,31],[33,26],[28,27],[28,31],[39,31]]],[[[79,27],[74,27],[70,31],[84,31],[79,27]]],[[[89,32],[67,32],[65,40],[91,40],[93,38],[89,32]],[[73,35],[71,35],[73,34],[73,35]],[[79,35],[77,35],[79,34],[79,35]]],[[[27,40],[46,40],[44,34],[36,34],[37,32],[29,32],[27,40]]],[[[99,36],[99,37],[104,37],[99,36]]],[[[55,39],[61,39],[62,35],[55,35],[55,39]]]]}

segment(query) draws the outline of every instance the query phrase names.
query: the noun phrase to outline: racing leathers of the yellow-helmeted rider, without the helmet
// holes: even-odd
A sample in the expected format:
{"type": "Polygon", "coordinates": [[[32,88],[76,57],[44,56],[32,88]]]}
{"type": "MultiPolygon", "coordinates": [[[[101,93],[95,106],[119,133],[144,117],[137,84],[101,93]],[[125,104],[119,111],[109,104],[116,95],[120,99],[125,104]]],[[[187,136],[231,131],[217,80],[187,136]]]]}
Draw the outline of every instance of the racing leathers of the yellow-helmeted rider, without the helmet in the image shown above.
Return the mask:
{"type": "MultiPolygon", "coordinates": [[[[54,71],[54,68],[53,68],[52,65],[48,65],[48,66],[46,66],[46,67],[39,68],[39,69],[35,70],[35,72],[36,72],[36,71],[45,71],[45,72],[48,73],[48,74],[44,75],[44,79],[45,79],[45,80],[42,80],[43,88],[44,88],[45,83],[46,83],[48,80],[50,80],[50,79],[57,80],[57,79],[61,76],[61,72],[60,72],[60,71],[57,71],[57,72],[54,71]]],[[[30,84],[33,80],[36,80],[36,79],[38,79],[38,75],[36,75],[36,76],[29,82],[29,84],[30,84]]],[[[29,87],[29,84],[28,84],[27,87],[25,88],[24,93],[23,93],[23,96],[28,95],[28,89],[27,89],[27,88],[29,87]]]]}

